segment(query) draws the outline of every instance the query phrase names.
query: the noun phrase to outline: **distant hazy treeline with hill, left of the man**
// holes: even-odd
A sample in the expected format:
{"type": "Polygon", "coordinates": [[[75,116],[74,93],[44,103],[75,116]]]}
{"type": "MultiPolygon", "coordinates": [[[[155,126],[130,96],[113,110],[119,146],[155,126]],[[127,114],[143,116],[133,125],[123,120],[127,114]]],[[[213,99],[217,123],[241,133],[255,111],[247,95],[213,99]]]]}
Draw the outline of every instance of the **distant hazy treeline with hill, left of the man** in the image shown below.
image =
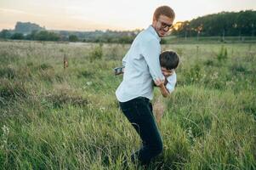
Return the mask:
{"type": "MultiPolygon", "coordinates": [[[[41,27],[31,30],[32,23],[17,22],[15,30],[3,30],[0,38],[14,40],[37,41],[68,41],[68,42],[105,42],[105,43],[131,43],[139,33],[135,31],[46,31],[41,27]],[[19,26],[17,26],[19,24],[19,26]],[[27,30],[25,29],[27,28],[27,30]],[[30,32],[30,33],[28,33],[30,32]]],[[[32,24],[34,25],[34,24],[32,24]]]]}

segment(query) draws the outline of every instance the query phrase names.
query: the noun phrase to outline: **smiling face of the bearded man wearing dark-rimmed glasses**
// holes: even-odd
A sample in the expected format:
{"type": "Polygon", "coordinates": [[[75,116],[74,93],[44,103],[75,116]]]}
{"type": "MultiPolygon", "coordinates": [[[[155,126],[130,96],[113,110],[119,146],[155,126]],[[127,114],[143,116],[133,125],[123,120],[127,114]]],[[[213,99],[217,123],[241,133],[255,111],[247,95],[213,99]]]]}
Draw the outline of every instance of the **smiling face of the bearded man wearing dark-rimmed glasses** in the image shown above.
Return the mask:
{"type": "Polygon", "coordinates": [[[159,37],[167,36],[168,31],[173,27],[174,19],[160,15],[158,19],[154,17],[152,26],[155,28],[159,37]]]}

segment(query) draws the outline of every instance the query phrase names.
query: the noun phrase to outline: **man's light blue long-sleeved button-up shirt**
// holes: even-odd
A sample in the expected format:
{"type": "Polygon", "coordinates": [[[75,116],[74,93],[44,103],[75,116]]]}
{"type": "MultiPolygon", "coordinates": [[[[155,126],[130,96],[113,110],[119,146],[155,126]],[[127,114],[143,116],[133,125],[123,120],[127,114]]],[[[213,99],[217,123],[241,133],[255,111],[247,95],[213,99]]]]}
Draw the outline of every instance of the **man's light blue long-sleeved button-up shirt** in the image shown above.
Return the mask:
{"type": "Polygon", "coordinates": [[[141,31],[134,39],[128,53],[122,59],[125,70],[116,91],[120,102],[137,97],[153,98],[152,80],[164,80],[159,62],[160,40],[152,26],[141,31]]]}

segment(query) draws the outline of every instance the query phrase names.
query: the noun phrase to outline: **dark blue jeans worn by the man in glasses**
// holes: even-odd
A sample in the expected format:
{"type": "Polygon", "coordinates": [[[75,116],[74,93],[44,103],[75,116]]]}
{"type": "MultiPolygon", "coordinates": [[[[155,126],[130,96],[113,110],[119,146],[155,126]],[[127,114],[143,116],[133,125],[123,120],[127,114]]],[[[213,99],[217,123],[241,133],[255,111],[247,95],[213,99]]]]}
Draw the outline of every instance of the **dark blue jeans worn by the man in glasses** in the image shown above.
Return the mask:
{"type": "Polygon", "coordinates": [[[131,156],[131,159],[135,161],[137,158],[142,164],[148,164],[151,158],[162,152],[162,138],[156,126],[151,102],[147,98],[139,97],[119,104],[142,139],[142,147],[131,156]]]}

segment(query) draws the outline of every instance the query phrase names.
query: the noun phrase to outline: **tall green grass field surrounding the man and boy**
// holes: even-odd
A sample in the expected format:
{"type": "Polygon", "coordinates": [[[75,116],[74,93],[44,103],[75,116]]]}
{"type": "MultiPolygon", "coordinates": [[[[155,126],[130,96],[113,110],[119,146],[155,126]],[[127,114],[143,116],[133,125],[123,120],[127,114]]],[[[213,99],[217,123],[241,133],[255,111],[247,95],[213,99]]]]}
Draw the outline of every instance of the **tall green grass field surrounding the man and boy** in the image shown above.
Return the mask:
{"type": "MultiPolygon", "coordinates": [[[[115,97],[122,76],[112,68],[128,48],[0,42],[0,169],[122,169],[140,145],[115,97]]],[[[256,169],[256,44],[167,49],[181,62],[149,169],[256,169]]]]}

